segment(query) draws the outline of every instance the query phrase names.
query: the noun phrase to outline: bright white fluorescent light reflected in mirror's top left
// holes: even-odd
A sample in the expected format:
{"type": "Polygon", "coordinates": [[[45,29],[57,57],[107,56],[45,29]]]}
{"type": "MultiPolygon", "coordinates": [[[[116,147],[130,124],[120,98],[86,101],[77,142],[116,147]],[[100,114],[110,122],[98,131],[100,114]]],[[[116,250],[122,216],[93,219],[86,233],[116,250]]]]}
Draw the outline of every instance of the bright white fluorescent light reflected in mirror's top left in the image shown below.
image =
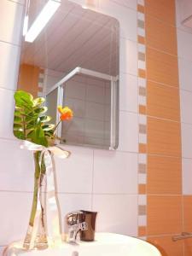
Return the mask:
{"type": "Polygon", "coordinates": [[[42,32],[44,26],[49,22],[51,17],[55,14],[55,11],[60,7],[61,1],[49,0],[48,3],[44,5],[44,8],[38,15],[38,17],[32,23],[32,26],[26,32],[25,41],[32,43],[38,34],[42,32]]]}

